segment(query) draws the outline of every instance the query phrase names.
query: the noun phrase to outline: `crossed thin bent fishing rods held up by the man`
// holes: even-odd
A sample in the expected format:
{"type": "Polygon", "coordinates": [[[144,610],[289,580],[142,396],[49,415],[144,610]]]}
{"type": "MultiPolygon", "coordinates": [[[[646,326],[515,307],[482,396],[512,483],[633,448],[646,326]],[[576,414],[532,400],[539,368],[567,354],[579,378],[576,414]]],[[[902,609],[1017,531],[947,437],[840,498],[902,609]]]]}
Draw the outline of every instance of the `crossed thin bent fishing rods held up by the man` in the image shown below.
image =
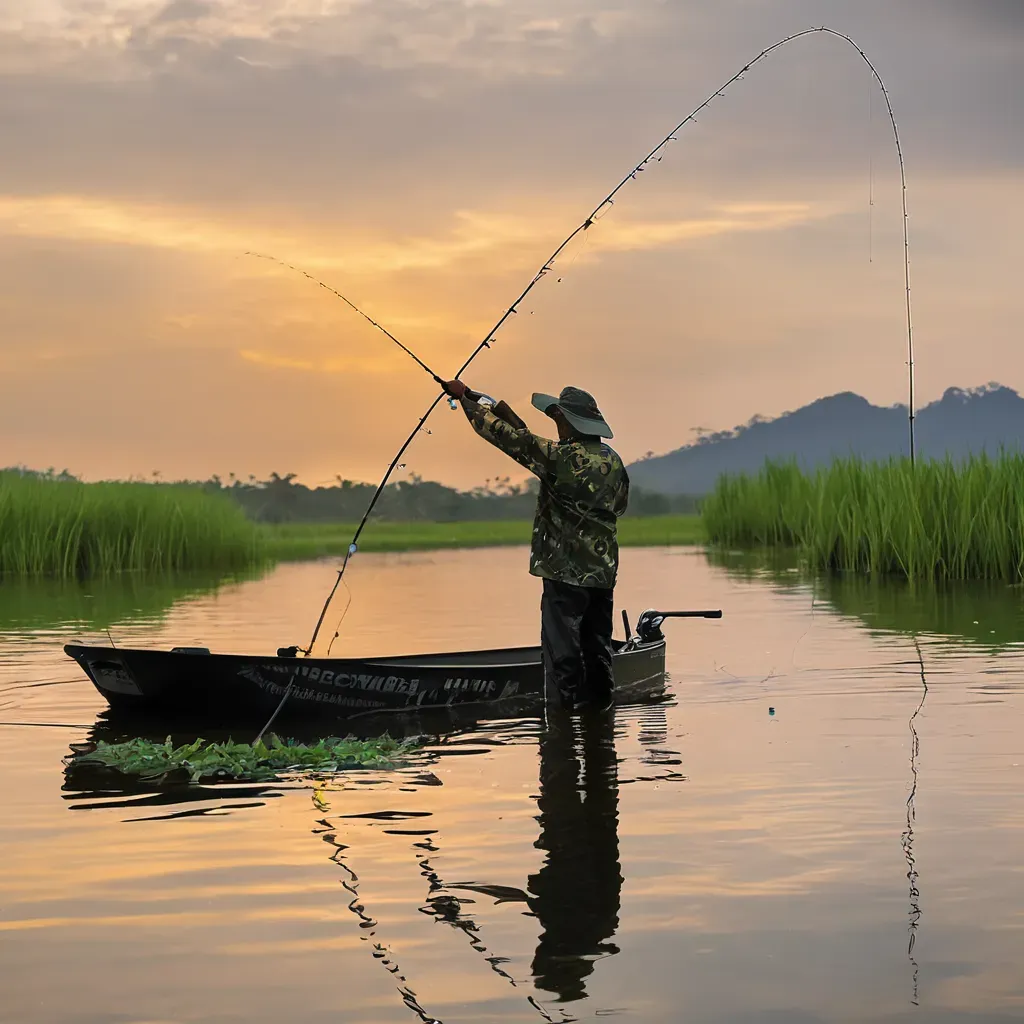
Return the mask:
{"type": "MultiPolygon", "coordinates": [[[[715,91],[712,92],[701,103],[695,106],[685,118],[683,118],[683,120],[680,121],[672,129],[672,131],[670,131],[645,157],[643,157],[642,160],[639,161],[639,163],[635,164],[631,168],[631,170],[629,170],[626,173],[626,175],[611,189],[611,191],[609,191],[608,195],[605,196],[604,199],[602,199],[601,202],[598,203],[596,207],[594,207],[594,209],[590,212],[590,214],[588,214],[588,216],[565,237],[565,239],[555,248],[554,252],[552,252],[552,254],[541,264],[540,268],[529,280],[526,287],[519,293],[519,296],[516,298],[516,300],[502,313],[502,315],[498,319],[498,323],[495,324],[495,326],[490,329],[490,331],[487,332],[483,340],[480,341],[480,343],[469,354],[469,357],[459,368],[459,371],[455,375],[455,379],[460,378],[466,372],[466,370],[472,365],[472,362],[476,359],[476,357],[485,348],[490,347],[490,343],[494,341],[495,335],[502,329],[502,327],[511,316],[514,316],[519,311],[519,306],[522,303],[522,301],[526,298],[527,295],[529,295],[529,293],[542,281],[542,279],[544,279],[548,274],[548,272],[552,269],[556,260],[562,255],[562,253],[572,243],[572,241],[578,236],[589,230],[591,226],[593,226],[594,222],[602,215],[602,213],[606,212],[607,209],[614,204],[615,198],[617,197],[618,193],[622,191],[623,188],[625,188],[630,181],[635,181],[637,179],[637,175],[645,171],[651,162],[659,163],[662,161],[664,156],[664,151],[668,147],[670,142],[674,142],[677,140],[678,133],[684,127],[686,127],[687,124],[693,121],[697,117],[697,115],[701,113],[701,111],[703,111],[707,106],[713,103],[717,98],[722,96],[725,90],[729,88],[729,86],[731,86],[733,83],[741,79],[746,74],[746,72],[749,72],[756,63],[760,62],[766,56],[768,56],[769,53],[774,52],[775,50],[779,49],[782,46],[785,46],[787,43],[791,43],[794,40],[802,39],[805,36],[811,36],[817,34],[834,36],[837,39],[843,40],[844,42],[852,46],[860,54],[864,63],[866,63],[868,69],[870,70],[871,76],[873,77],[874,81],[878,82],[879,88],[882,91],[882,95],[885,98],[886,109],[889,113],[889,121],[893,129],[893,137],[895,138],[896,141],[896,153],[899,158],[901,197],[902,197],[902,207],[903,207],[903,276],[904,276],[905,299],[906,299],[907,367],[909,372],[908,427],[909,427],[909,443],[910,443],[910,463],[912,465],[914,461],[913,326],[912,326],[912,317],[910,309],[910,242],[909,242],[909,227],[908,227],[909,218],[907,214],[906,170],[903,162],[903,147],[902,143],[900,142],[899,128],[897,127],[896,124],[896,116],[893,113],[892,101],[889,97],[889,90],[886,88],[886,84],[882,80],[882,76],[879,74],[878,69],[871,62],[870,58],[867,56],[864,50],[850,36],[848,36],[846,33],[838,31],[837,29],[830,29],[827,26],[815,26],[809,29],[803,29],[800,32],[792,33],[791,35],[785,36],[782,39],[779,39],[777,42],[772,43],[771,46],[768,46],[765,49],[763,49],[756,57],[754,57],[753,60],[743,65],[743,67],[740,68],[739,71],[737,71],[734,75],[732,75],[729,79],[727,79],[717,89],[715,89],[715,91]]],[[[254,253],[252,255],[260,255],[260,254],[254,253]]],[[[273,257],[265,257],[265,256],[262,258],[274,259],[273,257]]],[[[433,378],[435,382],[443,383],[441,378],[437,374],[435,374],[433,370],[431,370],[422,359],[420,359],[419,356],[417,356],[410,348],[408,348],[400,341],[398,341],[398,339],[393,334],[391,334],[390,331],[383,328],[375,319],[373,319],[361,309],[359,309],[349,299],[345,298],[345,296],[342,295],[340,292],[331,288],[331,286],[326,285],[323,282],[318,281],[316,278],[313,278],[311,274],[306,273],[306,271],[299,269],[298,267],[294,267],[291,264],[285,263],[283,260],[274,260],[274,261],[281,263],[284,266],[288,266],[299,273],[302,273],[304,276],[308,278],[316,285],[321,286],[322,288],[326,289],[329,292],[333,292],[340,299],[342,299],[342,301],[344,301],[348,306],[354,309],[360,316],[362,316],[370,324],[372,324],[379,331],[381,331],[388,338],[390,338],[391,341],[393,341],[396,345],[398,345],[402,349],[402,351],[412,356],[412,358],[414,358],[416,362],[423,370],[425,370],[428,374],[430,374],[430,376],[433,378]]],[[[380,483],[378,484],[377,489],[374,492],[374,495],[370,500],[370,504],[367,506],[367,510],[364,513],[362,518],[359,520],[359,524],[352,536],[351,543],[349,544],[348,550],[345,553],[344,560],[342,561],[341,564],[341,568],[338,570],[334,587],[331,589],[331,593],[328,595],[327,601],[324,603],[324,608],[321,611],[319,618],[316,621],[316,626],[313,629],[313,634],[309,641],[309,645],[304,648],[297,648],[297,650],[301,649],[305,654],[309,654],[309,652],[312,650],[313,645],[316,642],[316,638],[319,635],[319,631],[323,628],[324,620],[327,615],[328,608],[330,607],[331,602],[338,591],[338,587],[341,584],[342,578],[345,574],[345,570],[348,567],[349,560],[351,559],[351,556],[355,554],[355,552],[358,550],[359,537],[361,536],[362,530],[366,527],[371,514],[373,513],[377,501],[383,494],[385,486],[387,486],[387,483],[391,478],[391,474],[397,467],[399,460],[406,454],[409,446],[416,439],[417,434],[419,434],[420,431],[424,428],[424,425],[430,418],[430,415],[433,413],[433,411],[437,408],[438,403],[443,398],[444,398],[444,392],[442,391],[440,394],[437,395],[436,398],[434,398],[434,400],[427,408],[426,412],[420,417],[412,433],[410,433],[409,437],[402,443],[401,447],[398,449],[398,452],[395,455],[395,457],[391,460],[391,463],[388,466],[387,471],[384,473],[384,476],[382,477],[380,483]]],[[[335,634],[335,636],[337,636],[337,634],[335,634]]]]}

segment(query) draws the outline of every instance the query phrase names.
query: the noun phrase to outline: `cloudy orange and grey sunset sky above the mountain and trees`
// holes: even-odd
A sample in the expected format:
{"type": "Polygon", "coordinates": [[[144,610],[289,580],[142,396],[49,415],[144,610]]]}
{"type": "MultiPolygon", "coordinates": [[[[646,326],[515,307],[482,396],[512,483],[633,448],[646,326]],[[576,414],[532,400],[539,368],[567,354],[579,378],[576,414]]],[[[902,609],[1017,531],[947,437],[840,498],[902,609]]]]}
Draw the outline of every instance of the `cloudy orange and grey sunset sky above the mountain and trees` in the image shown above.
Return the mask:
{"type": "MultiPolygon", "coordinates": [[[[8,0],[0,465],[377,478],[434,385],[246,250],[454,372],[650,145],[812,23],[862,43],[900,121],[921,400],[1024,389],[1024,9],[713,6],[8,0]]],[[[905,400],[895,153],[844,44],[755,68],[585,240],[471,383],[520,412],[586,387],[627,459],[839,390],[905,400]]],[[[406,472],[514,469],[461,417],[430,427],[406,472]]]]}

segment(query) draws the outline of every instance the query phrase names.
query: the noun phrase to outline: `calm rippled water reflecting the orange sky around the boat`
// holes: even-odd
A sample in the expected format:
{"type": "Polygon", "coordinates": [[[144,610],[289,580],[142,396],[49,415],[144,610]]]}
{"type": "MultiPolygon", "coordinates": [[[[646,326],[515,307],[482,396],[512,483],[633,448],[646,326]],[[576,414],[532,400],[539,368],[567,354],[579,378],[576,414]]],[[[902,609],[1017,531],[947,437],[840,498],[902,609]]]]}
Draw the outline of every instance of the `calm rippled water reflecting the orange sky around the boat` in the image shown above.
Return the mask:
{"type": "MultiPolygon", "coordinates": [[[[525,561],[360,555],[338,652],[536,642],[525,561]]],[[[1020,591],[633,549],[634,621],[725,617],[672,624],[670,699],[610,727],[482,724],[326,806],[66,779],[103,708],[68,637],[273,651],[330,582],[0,587],[0,720],[40,723],[0,726],[0,1020],[1024,1017],[1020,591]]]]}

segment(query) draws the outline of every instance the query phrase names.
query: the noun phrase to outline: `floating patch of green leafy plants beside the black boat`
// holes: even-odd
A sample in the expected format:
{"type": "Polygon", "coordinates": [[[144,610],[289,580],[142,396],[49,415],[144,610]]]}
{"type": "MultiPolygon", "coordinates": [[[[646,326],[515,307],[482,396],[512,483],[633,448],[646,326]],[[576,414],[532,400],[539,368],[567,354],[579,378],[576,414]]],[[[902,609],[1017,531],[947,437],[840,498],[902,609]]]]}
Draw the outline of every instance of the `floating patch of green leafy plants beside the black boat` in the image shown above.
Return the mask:
{"type": "Polygon", "coordinates": [[[175,746],[134,738],[122,743],[103,740],[87,744],[69,759],[75,764],[100,765],[124,775],[158,778],[184,774],[193,782],[232,778],[267,781],[289,772],[331,773],[347,768],[391,768],[411,754],[416,744],[384,735],[373,739],[331,736],[315,743],[268,737],[257,743],[216,743],[203,738],[175,746]]]}

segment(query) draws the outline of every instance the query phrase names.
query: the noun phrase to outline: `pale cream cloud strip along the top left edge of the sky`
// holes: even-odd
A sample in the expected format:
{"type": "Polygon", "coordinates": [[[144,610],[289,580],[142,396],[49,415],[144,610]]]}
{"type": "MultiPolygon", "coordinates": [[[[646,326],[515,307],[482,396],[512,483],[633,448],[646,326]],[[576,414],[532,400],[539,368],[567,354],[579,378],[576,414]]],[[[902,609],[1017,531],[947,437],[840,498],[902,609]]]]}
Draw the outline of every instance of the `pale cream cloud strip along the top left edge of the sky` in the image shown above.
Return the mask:
{"type": "Polygon", "coordinates": [[[251,48],[243,56],[272,54],[280,66],[352,56],[392,70],[558,75],[581,43],[607,39],[632,19],[614,0],[563,0],[557,18],[548,16],[543,0],[92,0],[59,4],[48,17],[28,4],[22,10],[0,22],[0,30],[27,35],[38,54],[73,74],[118,62],[154,73],[175,52],[201,61],[204,52],[241,46],[251,48]],[[77,60],[69,49],[76,45],[77,60]]]}

